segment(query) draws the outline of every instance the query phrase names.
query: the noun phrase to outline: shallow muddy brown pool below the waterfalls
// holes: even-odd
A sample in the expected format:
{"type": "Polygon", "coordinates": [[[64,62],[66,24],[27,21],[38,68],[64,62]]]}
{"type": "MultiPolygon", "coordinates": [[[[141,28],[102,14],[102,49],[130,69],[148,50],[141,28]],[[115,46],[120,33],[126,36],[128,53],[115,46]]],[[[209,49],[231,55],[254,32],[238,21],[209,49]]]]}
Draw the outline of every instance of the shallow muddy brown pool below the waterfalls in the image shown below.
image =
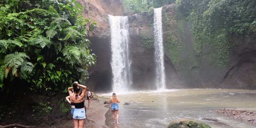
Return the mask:
{"type": "MultiPolygon", "coordinates": [[[[104,96],[110,97],[111,94],[104,96]]],[[[214,117],[219,121],[203,121],[212,128],[256,128],[256,124],[218,114],[216,110],[231,108],[256,112],[256,90],[182,89],[138,91],[118,94],[119,122],[113,125],[112,114],[106,114],[106,126],[119,128],[166,128],[179,118],[201,120],[214,117]],[[124,105],[124,102],[135,102],[124,105]]]]}

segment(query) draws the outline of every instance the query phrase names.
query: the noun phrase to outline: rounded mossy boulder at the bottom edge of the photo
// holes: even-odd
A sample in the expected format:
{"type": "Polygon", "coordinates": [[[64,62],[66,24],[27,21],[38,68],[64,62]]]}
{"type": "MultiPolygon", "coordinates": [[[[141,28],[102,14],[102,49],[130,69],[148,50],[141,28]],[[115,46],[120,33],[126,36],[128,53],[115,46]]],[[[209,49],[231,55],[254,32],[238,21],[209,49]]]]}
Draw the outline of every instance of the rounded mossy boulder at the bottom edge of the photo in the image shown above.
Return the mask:
{"type": "Polygon", "coordinates": [[[211,128],[211,126],[195,119],[177,119],[172,121],[167,128],[211,128]]]}

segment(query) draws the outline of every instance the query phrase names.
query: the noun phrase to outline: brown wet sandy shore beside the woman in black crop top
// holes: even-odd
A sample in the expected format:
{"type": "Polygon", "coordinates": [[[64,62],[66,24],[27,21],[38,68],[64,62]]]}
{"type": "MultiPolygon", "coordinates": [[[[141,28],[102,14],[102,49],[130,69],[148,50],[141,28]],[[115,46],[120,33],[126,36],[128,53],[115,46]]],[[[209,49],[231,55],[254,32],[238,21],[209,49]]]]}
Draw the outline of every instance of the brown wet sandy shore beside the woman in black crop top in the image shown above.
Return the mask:
{"type": "MultiPolygon", "coordinates": [[[[88,107],[86,102],[86,107],[88,107]]],[[[90,128],[100,128],[105,126],[105,114],[108,112],[109,108],[105,107],[107,104],[103,104],[102,101],[91,101],[90,108],[86,110],[86,115],[89,120],[89,123],[85,124],[84,127],[90,128]]]]}

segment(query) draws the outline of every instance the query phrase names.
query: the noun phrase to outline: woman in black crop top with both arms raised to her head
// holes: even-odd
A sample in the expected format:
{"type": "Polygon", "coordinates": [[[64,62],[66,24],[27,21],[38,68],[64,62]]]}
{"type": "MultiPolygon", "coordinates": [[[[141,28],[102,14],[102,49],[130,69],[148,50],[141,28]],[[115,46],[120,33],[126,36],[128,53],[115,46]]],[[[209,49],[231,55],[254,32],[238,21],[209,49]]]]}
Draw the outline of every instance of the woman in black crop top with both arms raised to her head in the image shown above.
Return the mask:
{"type": "Polygon", "coordinates": [[[73,87],[69,87],[69,96],[73,105],[75,105],[74,110],[74,128],[83,128],[84,126],[84,119],[85,117],[85,109],[84,109],[84,96],[86,93],[86,86],[78,84],[78,82],[73,83],[73,87]],[[83,89],[82,93],[80,91],[81,87],[83,89]],[[74,90],[74,95],[72,94],[71,90],[74,90]],[[81,93],[81,95],[80,95],[81,93]]]}

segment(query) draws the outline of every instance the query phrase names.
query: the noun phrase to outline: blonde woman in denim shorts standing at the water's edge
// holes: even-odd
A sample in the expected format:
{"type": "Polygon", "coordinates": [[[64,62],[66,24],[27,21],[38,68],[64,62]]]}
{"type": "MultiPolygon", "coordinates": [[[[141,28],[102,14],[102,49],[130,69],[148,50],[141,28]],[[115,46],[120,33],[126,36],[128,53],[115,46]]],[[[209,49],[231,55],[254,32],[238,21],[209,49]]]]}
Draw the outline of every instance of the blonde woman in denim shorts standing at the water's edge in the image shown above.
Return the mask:
{"type": "Polygon", "coordinates": [[[115,123],[115,113],[117,116],[117,124],[119,124],[119,116],[118,116],[118,103],[120,103],[119,98],[117,97],[116,93],[112,94],[112,97],[109,100],[109,103],[111,103],[111,111],[112,111],[112,118],[113,123],[115,123]]]}

